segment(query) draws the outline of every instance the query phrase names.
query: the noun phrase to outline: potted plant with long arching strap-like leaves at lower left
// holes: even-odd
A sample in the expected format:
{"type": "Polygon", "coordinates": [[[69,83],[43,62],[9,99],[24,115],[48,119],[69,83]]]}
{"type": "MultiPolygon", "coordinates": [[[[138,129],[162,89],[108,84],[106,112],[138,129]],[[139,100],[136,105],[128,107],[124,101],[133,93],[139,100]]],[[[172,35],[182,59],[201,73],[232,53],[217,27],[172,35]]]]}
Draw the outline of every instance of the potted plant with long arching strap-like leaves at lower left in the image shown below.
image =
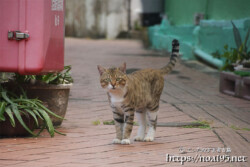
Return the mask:
{"type": "Polygon", "coordinates": [[[58,119],[63,118],[51,112],[40,100],[27,98],[21,87],[17,92],[10,91],[0,85],[0,136],[11,137],[31,134],[36,137],[46,128],[50,136],[53,137],[57,131],[54,129],[49,115],[58,119]],[[35,134],[33,130],[35,126],[38,126],[38,118],[43,123],[40,132],[35,134]]]}

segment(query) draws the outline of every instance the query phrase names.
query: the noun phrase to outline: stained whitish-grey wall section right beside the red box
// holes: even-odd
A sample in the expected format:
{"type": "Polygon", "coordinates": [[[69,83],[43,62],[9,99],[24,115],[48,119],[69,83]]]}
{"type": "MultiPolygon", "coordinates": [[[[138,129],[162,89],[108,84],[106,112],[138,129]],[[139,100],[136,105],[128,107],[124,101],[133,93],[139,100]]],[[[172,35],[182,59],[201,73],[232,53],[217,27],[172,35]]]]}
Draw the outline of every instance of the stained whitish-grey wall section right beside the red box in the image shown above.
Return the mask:
{"type": "Polygon", "coordinates": [[[127,27],[127,0],[66,0],[66,36],[113,39],[127,27]]]}

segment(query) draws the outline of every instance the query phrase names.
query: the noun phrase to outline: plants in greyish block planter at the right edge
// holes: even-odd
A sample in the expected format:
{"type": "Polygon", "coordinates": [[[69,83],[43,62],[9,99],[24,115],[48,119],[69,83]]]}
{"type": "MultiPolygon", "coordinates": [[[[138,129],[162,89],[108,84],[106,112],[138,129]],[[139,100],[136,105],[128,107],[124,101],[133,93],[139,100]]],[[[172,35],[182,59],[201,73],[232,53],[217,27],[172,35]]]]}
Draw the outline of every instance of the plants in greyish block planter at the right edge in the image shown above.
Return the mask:
{"type": "Polygon", "coordinates": [[[250,100],[250,51],[247,42],[250,34],[248,29],[244,42],[239,30],[233,25],[234,39],[237,48],[228,48],[219,58],[224,60],[220,74],[220,91],[222,93],[250,100]]]}

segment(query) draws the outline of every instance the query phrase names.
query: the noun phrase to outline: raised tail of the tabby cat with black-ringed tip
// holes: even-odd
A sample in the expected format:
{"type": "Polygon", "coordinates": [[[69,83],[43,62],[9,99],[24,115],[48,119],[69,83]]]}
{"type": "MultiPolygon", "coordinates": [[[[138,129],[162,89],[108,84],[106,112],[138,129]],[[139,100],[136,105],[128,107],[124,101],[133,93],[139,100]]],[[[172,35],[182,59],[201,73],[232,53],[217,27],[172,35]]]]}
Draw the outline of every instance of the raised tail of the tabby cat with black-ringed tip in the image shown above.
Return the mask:
{"type": "Polygon", "coordinates": [[[180,44],[179,44],[179,41],[177,39],[174,39],[172,41],[172,54],[170,57],[170,61],[166,66],[161,68],[161,73],[163,75],[166,75],[173,70],[173,68],[174,68],[174,66],[179,58],[179,45],[180,44]]]}

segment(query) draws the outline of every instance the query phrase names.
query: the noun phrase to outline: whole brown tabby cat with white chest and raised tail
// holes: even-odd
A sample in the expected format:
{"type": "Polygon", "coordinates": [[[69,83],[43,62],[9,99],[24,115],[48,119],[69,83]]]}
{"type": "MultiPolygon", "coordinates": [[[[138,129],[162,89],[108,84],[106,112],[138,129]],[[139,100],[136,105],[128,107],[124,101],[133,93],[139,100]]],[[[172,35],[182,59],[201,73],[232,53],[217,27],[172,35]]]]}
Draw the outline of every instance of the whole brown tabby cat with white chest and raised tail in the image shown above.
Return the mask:
{"type": "Polygon", "coordinates": [[[130,144],[134,114],[139,128],[135,141],[153,141],[164,75],[172,71],[179,56],[179,42],[173,40],[170,62],[161,69],[144,69],[126,74],[126,64],[105,69],[98,65],[100,83],[107,91],[116,128],[113,143],[130,144]],[[148,119],[146,119],[146,116],[148,119]],[[145,136],[146,126],[149,126],[145,136]]]}

